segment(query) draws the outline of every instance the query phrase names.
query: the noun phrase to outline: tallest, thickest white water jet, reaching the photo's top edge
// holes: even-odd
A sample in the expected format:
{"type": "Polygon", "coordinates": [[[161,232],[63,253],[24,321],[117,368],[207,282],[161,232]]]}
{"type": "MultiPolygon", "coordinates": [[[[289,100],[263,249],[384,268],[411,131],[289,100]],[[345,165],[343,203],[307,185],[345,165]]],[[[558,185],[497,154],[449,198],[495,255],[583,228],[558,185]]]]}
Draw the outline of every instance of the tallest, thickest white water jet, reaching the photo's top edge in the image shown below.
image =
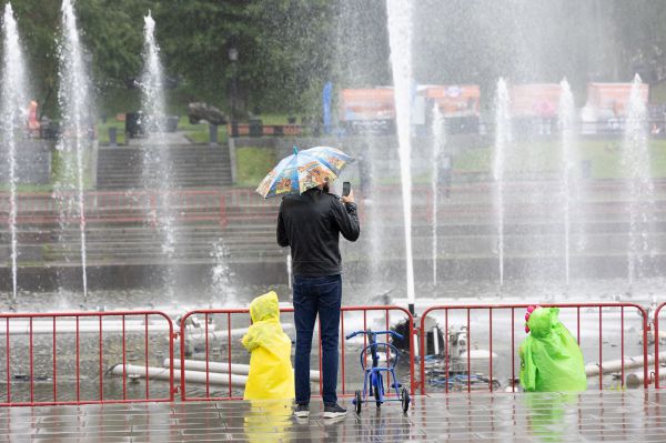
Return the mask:
{"type": "Polygon", "coordinates": [[[405,232],[405,265],[407,303],[414,311],[414,261],[412,253],[412,3],[410,0],[386,0],[389,42],[402,181],[405,232]]]}

